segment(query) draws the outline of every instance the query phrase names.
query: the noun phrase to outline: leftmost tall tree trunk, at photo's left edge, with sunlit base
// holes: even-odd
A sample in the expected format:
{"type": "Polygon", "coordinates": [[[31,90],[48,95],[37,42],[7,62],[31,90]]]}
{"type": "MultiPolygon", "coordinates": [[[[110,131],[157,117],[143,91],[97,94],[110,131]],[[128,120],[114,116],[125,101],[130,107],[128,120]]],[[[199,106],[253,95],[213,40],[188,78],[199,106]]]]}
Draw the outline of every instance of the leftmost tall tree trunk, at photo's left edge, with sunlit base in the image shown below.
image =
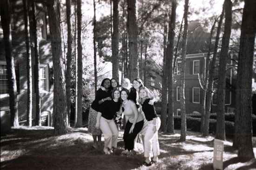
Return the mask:
{"type": "Polygon", "coordinates": [[[11,126],[19,126],[18,117],[18,98],[17,85],[14,68],[14,58],[12,56],[12,37],[10,22],[10,6],[9,0],[0,0],[1,26],[4,34],[5,57],[7,63],[7,77],[9,88],[9,105],[11,112],[11,126]]]}

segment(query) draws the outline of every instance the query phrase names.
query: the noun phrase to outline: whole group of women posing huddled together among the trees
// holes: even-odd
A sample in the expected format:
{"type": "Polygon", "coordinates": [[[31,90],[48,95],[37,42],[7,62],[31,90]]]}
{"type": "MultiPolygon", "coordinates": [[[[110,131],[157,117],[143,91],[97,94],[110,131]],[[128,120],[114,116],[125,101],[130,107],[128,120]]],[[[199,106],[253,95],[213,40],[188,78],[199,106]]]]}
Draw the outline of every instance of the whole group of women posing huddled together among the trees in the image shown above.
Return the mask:
{"type": "Polygon", "coordinates": [[[160,154],[157,131],[161,121],[155,112],[154,101],[153,95],[139,78],[132,85],[128,78],[124,78],[121,87],[114,78],[105,78],[96,92],[88,117],[93,147],[98,149],[101,146],[103,133],[103,151],[105,154],[115,151],[119,132],[114,117],[123,113],[127,120],[123,134],[125,150],[134,153],[136,137],[140,133],[144,141],[145,164],[157,162],[160,154]]]}

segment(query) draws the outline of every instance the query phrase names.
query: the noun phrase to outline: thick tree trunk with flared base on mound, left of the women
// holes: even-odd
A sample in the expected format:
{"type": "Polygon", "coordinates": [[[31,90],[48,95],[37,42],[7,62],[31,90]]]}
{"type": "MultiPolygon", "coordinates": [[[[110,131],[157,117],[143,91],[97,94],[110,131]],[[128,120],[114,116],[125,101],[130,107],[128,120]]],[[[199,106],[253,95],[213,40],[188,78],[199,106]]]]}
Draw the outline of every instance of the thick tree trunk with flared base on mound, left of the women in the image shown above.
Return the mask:
{"type": "Polygon", "coordinates": [[[61,26],[58,12],[58,0],[51,0],[47,4],[49,26],[51,31],[51,45],[54,67],[54,134],[61,135],[68,132],[66,81],[61,51],[61,26]]]}

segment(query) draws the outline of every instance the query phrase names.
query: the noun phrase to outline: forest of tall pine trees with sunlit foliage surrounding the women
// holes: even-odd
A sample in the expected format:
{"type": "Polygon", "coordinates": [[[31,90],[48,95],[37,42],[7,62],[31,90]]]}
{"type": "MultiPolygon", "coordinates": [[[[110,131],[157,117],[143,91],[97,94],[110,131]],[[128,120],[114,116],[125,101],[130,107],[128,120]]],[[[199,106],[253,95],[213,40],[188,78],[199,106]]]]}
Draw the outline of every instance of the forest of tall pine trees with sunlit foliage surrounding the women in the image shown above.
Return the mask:
{"type": "MultiPolygon", "coordinates": [[[[5,61],[9,89],[11,126],[19,126],[18,92],[16,87],[12,44],[12,6],[15,0],[0,0],[1,29],[4,42],[5,61]]],[[[16,0],[18,1],[18,0],[16,0]]],[[[216,111],[216,139],[226,139],[225,134],[225,87],[228,59],[236,69],[236,113],[233,147],[239,158],[255,157],[252,145],[252,80],[255,57],[256,1],[221,0],[219,13],[212,12],[213,2],[196,8],[192,0],[21,0],[22,24],[26,47],[27,76],[27,126],[41,126],[42,101],[40,97],[40,38],[37,25],[37,6],[47,9],[47,24],[50,34],[50,50],[53,61],[54,134],[66,134],[74,113],[75,127],[83,126],[83,113],[88,111],[95,91],[103,78],[140,77],[148,86],[148,61],[161,68],[160,94],[161,131],[175,133],[174,87],[180,83],[181,136],[186,141],[185,74],[186,55],[208,53],[205,58],[205,76],[198,74],[202,88],[201,132],[209,135],[213,86],[216,83],[216,58],[219,58],[216,111]],[[90,5],[90,6],[89,6],[90,5]],[[89,11],[89,12],[88,12],[89,11]],[[212,16],[204,13],[211,11],[212,16]],[[89,14],[88,14],[89,13],[89,14]],[[238,16],[238,19],[236,18],[238,16]],[[196,18],[197,17],[197,18],[196,18]],[[198,20],[202,31],[200,48],[193,48],[195,38],[189,27],[190,21],[198,20]],[[240,33],[241,32],[241,33],[240,33]],[[203,39],[205,38],[205,40],[203,39]],[[210,58],[211,55],[211,58],[210,58]],[[34,64],[31,62],[34,58],[34,64]],[[177,59],[181,64],[177,65],[177,59]],[[107,66],[111,63],[110,69],[107,66]],[[178,68],[177,68],[178,67],[178,68]],[[181,70],[181,78],[175,79],[175,70],[181,70]],[[32,75],[32,70],[34,74],[32,75]],[[33,76],[33,80],[32,80],[33,76]],[[34,89],[32,84],[34,83],[34,89]],[[34,93],[35,92],[35,93],[34,93]],[[35,101],[32,100],[35,95],[35,101]],[[32,105],[35,102],[35,105],[32,105]],[[32,113],[35,107],[35,113],[32,113]],[[167,120],[168,118],[168,120],[167,120]],[[166,121],[167,120],[167,121],[166,121]]],[[[198,26],[199,27],[199,26],[198,26]]],[[[14,43],[15,44],[15,43],[14,43]]],[[[2,53],[0,53],[2,54],[2,53]]],[[[188,68],[189,69],[189,68],[188,68]]]]}

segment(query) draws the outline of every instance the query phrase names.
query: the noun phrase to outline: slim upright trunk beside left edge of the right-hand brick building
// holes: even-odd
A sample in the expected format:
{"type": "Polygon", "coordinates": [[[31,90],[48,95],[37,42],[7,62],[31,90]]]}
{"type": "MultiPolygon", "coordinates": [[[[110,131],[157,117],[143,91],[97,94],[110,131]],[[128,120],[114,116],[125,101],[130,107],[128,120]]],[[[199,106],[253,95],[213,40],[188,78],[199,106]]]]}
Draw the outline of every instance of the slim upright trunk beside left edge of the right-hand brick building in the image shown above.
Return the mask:
{"type": "Polygon", "coordinates": [[[188,11],[189,11],[189,0],[185,0],[184,6],[184,30],[183,30],[183,41],[182,41],[182,71],[181,71],[181,91],[180,91],[180,101],[181,101],[181,141],[186,141],[186,107],[185,107],[185,62],[186,62],[186,52],[187,52],[187,36],[188,36],[188,11]]]}

